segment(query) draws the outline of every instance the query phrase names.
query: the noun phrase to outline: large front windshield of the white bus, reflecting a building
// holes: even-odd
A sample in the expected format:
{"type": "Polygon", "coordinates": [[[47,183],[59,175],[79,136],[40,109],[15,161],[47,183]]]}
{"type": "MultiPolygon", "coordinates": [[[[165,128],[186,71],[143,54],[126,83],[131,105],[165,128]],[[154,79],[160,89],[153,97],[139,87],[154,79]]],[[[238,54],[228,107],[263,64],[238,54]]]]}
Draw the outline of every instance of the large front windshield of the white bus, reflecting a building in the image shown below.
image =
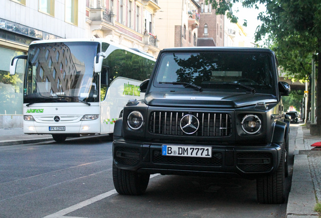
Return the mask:
{"type": "Polygon", "coordinates": [[[98,42],[31,44],[24,103],[98,102],[99,77],[93,64],[99,51],[98,42]]]}

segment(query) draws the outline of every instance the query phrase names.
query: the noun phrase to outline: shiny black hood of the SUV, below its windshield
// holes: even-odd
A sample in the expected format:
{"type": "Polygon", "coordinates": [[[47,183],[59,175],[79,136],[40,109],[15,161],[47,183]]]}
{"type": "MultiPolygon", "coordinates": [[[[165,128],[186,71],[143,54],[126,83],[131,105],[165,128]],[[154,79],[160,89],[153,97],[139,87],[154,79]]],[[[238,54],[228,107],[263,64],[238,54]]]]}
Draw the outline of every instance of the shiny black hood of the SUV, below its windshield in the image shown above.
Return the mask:
{"type": "Polygon", "coordinates": [[[276,96],[239,92],[151,92],[144,102],[150,106],[242,107],[257,102],[277,102],[276,96]]]}

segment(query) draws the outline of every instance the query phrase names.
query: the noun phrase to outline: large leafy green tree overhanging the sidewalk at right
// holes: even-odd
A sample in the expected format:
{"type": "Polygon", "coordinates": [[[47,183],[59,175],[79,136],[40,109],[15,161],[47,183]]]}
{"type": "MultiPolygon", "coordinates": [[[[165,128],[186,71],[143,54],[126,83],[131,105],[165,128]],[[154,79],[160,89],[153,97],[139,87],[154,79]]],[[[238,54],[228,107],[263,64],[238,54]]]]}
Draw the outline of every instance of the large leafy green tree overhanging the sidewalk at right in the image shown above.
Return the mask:
{"type": "MultiPolygon", "coordinates": [[[[258,4],[266,7],[266,12],[258,16],[262,24],[256,29],[255,40],[267,39],[266,45],[276,49],[280,66],[288,75],[307,79],[314,52],[316,65],[321,64],[320,0],[207,0],[217,14],[227,14],[232,22],[237,21],[230,10],[236,2],[247,8],[257,8],[258,4]]],[[[318,68],[317,74],[320,72],[318,68]]],[[[321,76],[317,77],[316,86],[321,87],[321,76]]],[[[321,89],[317,89],[316,96],[316,116],[321,117],[321,89]]],[[[321,122],[317,123],[317,128],[321,130],[321,122]]]]}

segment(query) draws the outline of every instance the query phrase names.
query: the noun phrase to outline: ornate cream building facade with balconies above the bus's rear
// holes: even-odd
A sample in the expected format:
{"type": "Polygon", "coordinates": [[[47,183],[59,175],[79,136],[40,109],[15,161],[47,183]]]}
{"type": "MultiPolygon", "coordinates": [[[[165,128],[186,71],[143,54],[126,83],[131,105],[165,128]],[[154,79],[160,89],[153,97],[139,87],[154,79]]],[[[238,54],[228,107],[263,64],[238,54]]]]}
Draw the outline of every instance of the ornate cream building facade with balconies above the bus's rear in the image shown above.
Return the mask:
{"type": "Polygon", "coordinates": [[[86,0],[86,37],[106,38],[157,57],[157,0],[86,0]]]}

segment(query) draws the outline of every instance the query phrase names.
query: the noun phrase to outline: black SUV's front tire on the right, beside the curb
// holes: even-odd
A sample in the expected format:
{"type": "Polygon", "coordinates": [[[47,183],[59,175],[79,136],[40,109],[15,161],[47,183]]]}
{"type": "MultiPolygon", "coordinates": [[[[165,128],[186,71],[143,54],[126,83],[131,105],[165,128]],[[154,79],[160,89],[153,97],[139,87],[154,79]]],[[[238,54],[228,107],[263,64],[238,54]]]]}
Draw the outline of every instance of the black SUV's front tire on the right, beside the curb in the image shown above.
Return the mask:
{"type": "Polygon", "coordinates": [[[256,179],[259,203],[282,204],[285,201],[285,149],[282,149],[280,165],[274,174],[256,179]]]}

